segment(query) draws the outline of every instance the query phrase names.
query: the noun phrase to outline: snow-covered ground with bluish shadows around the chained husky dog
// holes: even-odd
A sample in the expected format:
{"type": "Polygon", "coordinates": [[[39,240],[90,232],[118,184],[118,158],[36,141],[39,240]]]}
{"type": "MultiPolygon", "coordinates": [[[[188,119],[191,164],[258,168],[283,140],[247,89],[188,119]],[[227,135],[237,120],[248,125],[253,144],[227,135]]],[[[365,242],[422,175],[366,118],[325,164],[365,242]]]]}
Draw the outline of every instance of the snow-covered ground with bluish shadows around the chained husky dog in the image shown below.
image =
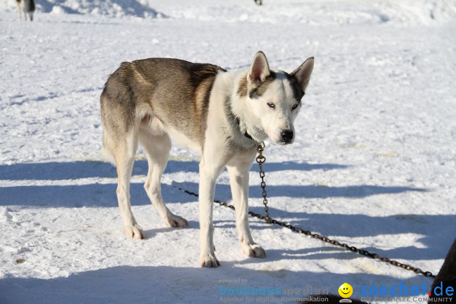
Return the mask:
{"type": "MultiPolygon", "coordinates": [[[[197,191],[198,156],[179,146],[162,189],[189,226],[165,227],[150,206],[139,151],[131,201],[146,239],[126,238],[98,98],[122,61],[245,69],[262,50],[291,71],[314,56],[295,143],[267,143],[271,215],[436,274],[456,236],[453,1],[37,3],[29,23],[0,2],[1,303],[215,303],[219,285],[430,291],[431,279],[253,218],[268,256],[247,258],[233,212],[219,206],[222,267],[200,268],[198,204],[178,190],[197,191]],[[238,278],[247,282],[219,284],[238,278]]],[[[217,199],[230,200],[228,184],[224,172],[217,199]]],[[[262,212],[258,184],[253,166],[250,208],[262,212]]]]}

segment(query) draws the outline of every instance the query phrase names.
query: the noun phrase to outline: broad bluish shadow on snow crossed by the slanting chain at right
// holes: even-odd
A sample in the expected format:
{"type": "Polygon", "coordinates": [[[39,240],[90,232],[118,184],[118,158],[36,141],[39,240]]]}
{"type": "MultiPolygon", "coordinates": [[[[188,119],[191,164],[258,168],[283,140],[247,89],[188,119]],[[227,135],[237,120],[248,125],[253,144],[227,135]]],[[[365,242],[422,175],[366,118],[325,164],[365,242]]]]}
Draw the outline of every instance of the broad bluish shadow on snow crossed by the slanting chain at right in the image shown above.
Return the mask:
{"type": "MultiPolygon", "coordinates": [[[[264,214],[262,207],[249,207],[249,210],[264,214]]],[[[340,243],[347,243],[352,246],[354,245],[353,238],[367,238],[365,242],[372,245],[366,246],[358,243],[355,246],[369,252],[377,253],[380,256],[387,256],[391,259],[443,259],[448,252],[451,242],[454,239],[454,232],[456,231],[456,215],[454,214],[369,216],[364,214],[288,212],[273,207],[270,207],[269,211],[275,219],[290,223],[306,231],[327,236],[340,243]],[[416,239],[413,237],[407,240],[407,234],[419,235],[419,237],[416,239]],[[415,245],[402,247],[391,246],[389,240],[395,240],[397,238],[403,239],[403,243],[412,243],[415,245]],[[375,245],[377,243],[379,243],[378,246],[375,245]],[[379,249],[378,247],[385,249],[379,249]],[[394,248],[386,249],[388,247],[394,248]]],[[[216,229],[235,229],[234,214],[233,221],[214,219],[214,226],[216,229]]],[[[276,229],[278,231],[284,230],[288,232],[286,228],[278,225],[268,225],[252,217],[250,217],[250,228],[252,231],[276,229]]],[[[261,232],[257,234],[261,235],[261,232]]],[[[284,242],[319,244],[319,247],[297,250],[267,249],[268,260],[293,259],[303,262],[305,260],[321,260],[327,258],[355,259],[361,256],[344,248],[329,244],[326,245],[324,242],[313,240],[308,236],[300,234],[287,234],[284,242]]],[[[289,244],[286,247],[289,247],[289,244]]],[[[262,261],[253,259],[248,262],[262,261]]]]}

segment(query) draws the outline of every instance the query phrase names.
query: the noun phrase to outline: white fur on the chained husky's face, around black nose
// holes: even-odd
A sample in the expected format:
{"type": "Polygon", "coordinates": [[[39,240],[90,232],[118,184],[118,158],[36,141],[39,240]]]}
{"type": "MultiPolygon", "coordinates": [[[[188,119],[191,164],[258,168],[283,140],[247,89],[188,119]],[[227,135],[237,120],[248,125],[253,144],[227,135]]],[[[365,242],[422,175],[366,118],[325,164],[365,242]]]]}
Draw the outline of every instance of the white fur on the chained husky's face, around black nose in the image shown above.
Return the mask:
{"type": "Polygon", "coordinates": [[[288,144],[294,141],[294,135],[291,141],[285,142],[282,132],[291,130],[294,134],[293,123],[299,113],[300,101],[293,96],[286,75],[277,72],[276,77],[261,97],[250,100],[251,109],[252,114],[259,120],[261,129],[271,140],[279,144],[288,144]]]}

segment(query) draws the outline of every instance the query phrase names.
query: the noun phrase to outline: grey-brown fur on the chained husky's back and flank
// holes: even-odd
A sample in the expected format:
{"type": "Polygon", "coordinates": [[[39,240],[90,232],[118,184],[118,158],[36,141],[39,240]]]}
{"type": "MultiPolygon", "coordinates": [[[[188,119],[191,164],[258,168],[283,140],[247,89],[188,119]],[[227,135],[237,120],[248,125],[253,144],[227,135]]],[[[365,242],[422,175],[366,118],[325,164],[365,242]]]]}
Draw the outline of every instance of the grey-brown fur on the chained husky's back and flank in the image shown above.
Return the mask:
{"type": "Polygon", "coordinates": [[[117,133],[128,132],[138,119],[147,118],[138,117],[145,109],[203,144],[210,92],[217,73],[223,71],[216,65],[179,59],[123,62],[110,75],[101,95],[103,124],[117,133]]]}

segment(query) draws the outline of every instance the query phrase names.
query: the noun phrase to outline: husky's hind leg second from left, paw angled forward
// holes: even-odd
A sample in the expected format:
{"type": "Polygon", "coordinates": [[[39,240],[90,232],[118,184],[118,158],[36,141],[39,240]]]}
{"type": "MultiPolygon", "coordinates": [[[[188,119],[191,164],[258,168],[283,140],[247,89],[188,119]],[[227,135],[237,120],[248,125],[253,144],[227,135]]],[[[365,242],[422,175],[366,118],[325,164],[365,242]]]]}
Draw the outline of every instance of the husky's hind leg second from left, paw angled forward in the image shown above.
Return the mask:
{"type": "Polygon", "coordinates": [[[166,133],[155,135],[146,127],[141,127],[139,140],[144,147],[147,164],[149,166],[144,189],[150,202],[168,226],[184,227],[188,225],[186,219],[174,215],[169,211],[162,198],[160,180],[163,171],[165,171],[166,164],[168,163],[169,151],[171,150],[171,139],[166,133]]]}

